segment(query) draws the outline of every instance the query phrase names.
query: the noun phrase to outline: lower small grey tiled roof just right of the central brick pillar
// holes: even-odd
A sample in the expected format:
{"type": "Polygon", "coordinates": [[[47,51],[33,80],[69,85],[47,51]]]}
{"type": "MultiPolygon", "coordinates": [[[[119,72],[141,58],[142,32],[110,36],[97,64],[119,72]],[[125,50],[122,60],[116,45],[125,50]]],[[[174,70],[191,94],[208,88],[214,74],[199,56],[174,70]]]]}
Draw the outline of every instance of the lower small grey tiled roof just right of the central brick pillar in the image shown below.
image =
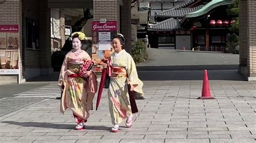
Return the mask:
{"type": "Polygon", "coordinates": [[[147,30],[149,31],[179,30],[181,28],[179,22],[180,22],[180,19],[169,18],[167,20],[164,20],[163,22],[151,25],[149,28],[147,28],[147,30]]]}

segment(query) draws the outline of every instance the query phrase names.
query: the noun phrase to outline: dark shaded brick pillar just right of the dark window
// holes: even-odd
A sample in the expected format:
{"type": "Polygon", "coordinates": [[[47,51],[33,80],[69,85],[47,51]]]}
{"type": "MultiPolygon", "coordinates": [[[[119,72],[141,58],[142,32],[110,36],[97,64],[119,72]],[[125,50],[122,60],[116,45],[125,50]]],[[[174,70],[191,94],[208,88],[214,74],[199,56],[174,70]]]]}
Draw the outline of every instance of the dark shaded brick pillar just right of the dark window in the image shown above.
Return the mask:
{"type": "Polygon", "coordinates": [[[39,51],[41,75],[52,73],[51,68],[51,10],[47,0],[39,0],[39,51]]]}

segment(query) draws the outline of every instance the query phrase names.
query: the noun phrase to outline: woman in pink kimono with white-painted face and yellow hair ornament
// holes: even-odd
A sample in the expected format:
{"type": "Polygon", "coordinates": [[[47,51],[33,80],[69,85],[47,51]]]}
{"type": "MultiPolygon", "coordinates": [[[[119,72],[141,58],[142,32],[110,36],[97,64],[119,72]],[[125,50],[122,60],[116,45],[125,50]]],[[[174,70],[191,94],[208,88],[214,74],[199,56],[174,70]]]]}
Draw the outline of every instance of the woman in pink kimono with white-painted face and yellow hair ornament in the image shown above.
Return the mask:
{"type": "Polygon", "coordinates": [[[80,73],[80,68],[85,61],[91,60],[90,56],[81,49],[81,41],[85,40],[83,32],[72,33],[72,50],[66,54],[59,75],[58,85],[63,90],[60,112],[70,109],[77,123],[76,130],[85,128],[92,108],[92,100],[97,91],[97,76],[91,70],[80,73]],[[64,85],[64,86],[63,86],[64,85]]]}

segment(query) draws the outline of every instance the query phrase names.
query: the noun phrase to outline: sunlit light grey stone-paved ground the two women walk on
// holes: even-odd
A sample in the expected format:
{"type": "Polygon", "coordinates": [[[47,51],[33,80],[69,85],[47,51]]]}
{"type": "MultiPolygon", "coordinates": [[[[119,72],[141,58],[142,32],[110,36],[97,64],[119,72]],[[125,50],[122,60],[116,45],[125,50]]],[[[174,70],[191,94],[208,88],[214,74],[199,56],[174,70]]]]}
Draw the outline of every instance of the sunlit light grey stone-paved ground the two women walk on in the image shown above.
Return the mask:
{"type": "Polygon", "coordinates": [[[146,99],[137,100],[139,119],[131,128],[122,124],[118,133],[110,132],[106,90],[99,110],[91,111],[82,131],[73,130],[70,111],[59,113],[56,83],[44,87],[54,91],[45,92],[45,97],[38,89],[17,94],[11,98],[39,102],[0,117],[0,142],[255,142],[255,82],[210,81],[216,98],[211,100],[197,99],[199,80],[144,84],[146,99]]]}

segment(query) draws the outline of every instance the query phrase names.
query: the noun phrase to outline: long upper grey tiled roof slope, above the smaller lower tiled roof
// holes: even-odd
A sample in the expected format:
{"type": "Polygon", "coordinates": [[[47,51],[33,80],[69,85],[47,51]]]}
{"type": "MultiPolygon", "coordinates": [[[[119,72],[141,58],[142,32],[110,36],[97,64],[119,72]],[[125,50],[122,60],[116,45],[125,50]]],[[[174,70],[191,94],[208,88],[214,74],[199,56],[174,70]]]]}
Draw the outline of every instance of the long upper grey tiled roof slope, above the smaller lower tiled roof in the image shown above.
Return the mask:
{"type": "Polygon", "coordinates": [[[184,17],[186,13],[191,13],[201,9],[203,6],[197,6],[195,8],[181,8],[181,9],[170,9],[167,11],[161,11],[156,14],[159,17],[184,17]]]}

